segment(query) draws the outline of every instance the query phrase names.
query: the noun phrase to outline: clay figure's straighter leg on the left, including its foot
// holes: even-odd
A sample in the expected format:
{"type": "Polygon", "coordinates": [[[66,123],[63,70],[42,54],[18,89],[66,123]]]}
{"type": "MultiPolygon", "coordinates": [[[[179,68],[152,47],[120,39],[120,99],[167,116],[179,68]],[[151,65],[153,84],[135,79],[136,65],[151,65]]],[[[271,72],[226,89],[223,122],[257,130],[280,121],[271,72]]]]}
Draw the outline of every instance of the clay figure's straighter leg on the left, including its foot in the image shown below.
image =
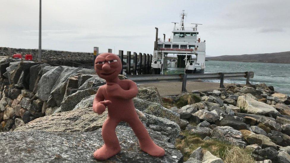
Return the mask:
{"type": "Polygon", "coordinates": [[[121,148],[115,132],[118,123],[119,121],[112,118],[107,118],[104,122],[102,127],[102,137],[105,144],[94,152],[95,159],[106,160],[120,152],[121,148]]]}

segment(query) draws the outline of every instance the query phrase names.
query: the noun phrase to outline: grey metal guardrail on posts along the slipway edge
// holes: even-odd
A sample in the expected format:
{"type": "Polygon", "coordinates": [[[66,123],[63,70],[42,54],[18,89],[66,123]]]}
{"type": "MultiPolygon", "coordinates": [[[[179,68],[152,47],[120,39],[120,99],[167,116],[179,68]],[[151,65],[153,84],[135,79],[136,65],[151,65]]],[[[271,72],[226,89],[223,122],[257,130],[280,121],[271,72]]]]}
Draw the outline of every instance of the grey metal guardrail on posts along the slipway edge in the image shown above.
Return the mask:
{"type": "Polygon", "coordinates": [[[224,79],[234,79],[245,77],[246,84],[250,84],[250,78],[254,77],[254,72],[231,72],[231,73],[210,73],[210,74],[174,74],[174,75],[126,75],[128,79],[135,81],[137,84],[143,83],[165,83],[165,82],[182,82],[182,92],[186,91],[186,81],[212,80],[220,79],[220,88],[224,88],[224,79]]]}

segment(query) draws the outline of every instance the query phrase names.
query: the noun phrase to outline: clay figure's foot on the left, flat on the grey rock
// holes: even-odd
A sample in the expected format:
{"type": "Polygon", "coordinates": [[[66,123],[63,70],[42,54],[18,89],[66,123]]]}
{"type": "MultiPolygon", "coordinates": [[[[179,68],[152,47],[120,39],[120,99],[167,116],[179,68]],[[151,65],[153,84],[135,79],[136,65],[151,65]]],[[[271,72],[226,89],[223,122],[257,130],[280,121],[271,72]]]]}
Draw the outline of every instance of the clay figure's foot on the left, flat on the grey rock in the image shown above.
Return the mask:
{"type": "Polygon", "coordinates": [[[111,158],[118,154],[120,152],[121,148],[119,147],[108,147],[105,144],[103,147],[97,149],[97,151],[94,152],[94,158],[97,160],[106,160],[108,158],[111,158]]]}

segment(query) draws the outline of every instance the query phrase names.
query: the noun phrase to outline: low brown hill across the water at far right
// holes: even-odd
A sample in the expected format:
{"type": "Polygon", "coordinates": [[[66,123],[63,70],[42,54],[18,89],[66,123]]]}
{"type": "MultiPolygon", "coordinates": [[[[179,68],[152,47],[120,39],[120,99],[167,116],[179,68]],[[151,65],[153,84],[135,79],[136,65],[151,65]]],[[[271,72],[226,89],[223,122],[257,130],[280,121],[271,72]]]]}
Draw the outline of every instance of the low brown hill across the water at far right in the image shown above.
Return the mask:
{"type": "Polygon", "coordinates": [[[206,57],[209,61],[238,61],[238,62],[263,62],[290,64],[290,51],[265,54],[244,54],[238,56],[206,57]]]}

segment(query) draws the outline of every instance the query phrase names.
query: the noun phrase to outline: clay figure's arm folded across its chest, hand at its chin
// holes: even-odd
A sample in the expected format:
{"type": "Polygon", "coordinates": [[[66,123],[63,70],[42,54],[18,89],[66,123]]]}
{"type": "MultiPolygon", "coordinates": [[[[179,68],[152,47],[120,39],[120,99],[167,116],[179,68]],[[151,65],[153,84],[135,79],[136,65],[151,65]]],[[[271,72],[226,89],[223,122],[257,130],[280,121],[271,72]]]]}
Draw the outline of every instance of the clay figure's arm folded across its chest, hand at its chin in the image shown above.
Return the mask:
{"type": "MultiPolygon", "coordinates": [[[[138,94],[138,87],[132,80],[125,80],[128,83],[128,90],[122,89],[118,84],[114,83],[106,88],[107,94],[122,99],[133,99],[138,94]]],[[[124,82],[124,80],[123,80],[124,82]]]]}

